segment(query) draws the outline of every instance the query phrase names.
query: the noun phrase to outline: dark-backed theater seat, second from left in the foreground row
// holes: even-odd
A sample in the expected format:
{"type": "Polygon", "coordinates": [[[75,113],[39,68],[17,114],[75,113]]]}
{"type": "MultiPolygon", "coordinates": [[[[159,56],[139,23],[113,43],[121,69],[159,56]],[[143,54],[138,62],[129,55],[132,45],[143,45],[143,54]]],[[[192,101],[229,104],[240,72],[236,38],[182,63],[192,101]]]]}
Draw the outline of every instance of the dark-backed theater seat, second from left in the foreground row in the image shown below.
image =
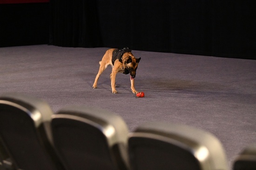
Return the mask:
{"type": "Polygon", "coordinates": [[[71,106],[52,118],[54,145],[68,170],[128,169],[128,128],[120,116],[71,106]]]}

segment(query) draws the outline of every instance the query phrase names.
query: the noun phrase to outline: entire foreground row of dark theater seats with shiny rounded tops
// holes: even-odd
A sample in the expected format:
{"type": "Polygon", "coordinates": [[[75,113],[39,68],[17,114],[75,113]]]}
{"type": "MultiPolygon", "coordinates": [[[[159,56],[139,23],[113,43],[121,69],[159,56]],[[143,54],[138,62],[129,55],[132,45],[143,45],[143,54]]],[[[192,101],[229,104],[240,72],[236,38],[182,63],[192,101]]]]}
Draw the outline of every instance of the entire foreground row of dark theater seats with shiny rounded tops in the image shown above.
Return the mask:
{"type": "MultiPolygon", "coordinates": [[[[234,170],[256,170],[256,145],[234,170]]],[[[148,122],[134,132],[119,115],[73,106],[53,113],[24,94],[0,95],[0,170],[228,170],[209,132],[148,122]]]]}

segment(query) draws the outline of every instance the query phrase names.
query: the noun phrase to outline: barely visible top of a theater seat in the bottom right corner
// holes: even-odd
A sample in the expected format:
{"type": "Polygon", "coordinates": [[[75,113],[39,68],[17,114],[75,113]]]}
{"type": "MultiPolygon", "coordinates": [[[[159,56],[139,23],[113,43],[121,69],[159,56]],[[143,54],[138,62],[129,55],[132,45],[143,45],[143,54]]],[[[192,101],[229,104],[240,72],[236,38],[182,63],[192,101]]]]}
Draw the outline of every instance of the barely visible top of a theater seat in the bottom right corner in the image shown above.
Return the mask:
{"type": "Polygon", "coordinates": [[[233,170],[256,170],[256,144],[247,146],[236,157],[233,170]]]}

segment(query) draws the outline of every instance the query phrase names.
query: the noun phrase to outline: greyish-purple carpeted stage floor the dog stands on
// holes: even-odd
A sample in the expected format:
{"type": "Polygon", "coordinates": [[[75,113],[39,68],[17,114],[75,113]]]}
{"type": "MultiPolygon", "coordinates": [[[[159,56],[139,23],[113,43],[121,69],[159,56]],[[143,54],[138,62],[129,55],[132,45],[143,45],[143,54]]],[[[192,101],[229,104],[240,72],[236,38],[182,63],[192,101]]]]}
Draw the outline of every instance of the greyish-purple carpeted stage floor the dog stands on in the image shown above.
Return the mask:
{"type": "Polygon", "coordinates": [[[145,121],[182,123],[211,132],[222,142],[229,166],[256,143],[256,60],[133,50],[141,57],[135,98],[128,75],[119,74],[112,94],[109,66],[93,89],[108,48],[48,45],[0,48],[0,93],[22,92],[58,111],[67,105],[115,112],[130,131],[145,121]]]}

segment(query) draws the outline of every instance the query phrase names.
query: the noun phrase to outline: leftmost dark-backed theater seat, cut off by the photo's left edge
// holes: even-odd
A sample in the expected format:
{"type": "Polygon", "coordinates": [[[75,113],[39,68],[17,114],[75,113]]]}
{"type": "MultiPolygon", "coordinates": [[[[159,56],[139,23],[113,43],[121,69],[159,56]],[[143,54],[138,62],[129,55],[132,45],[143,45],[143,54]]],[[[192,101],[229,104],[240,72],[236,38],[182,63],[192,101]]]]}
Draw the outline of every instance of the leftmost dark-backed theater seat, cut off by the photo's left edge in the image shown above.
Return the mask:
{"type": "Polygon", "coordinates": [[[19,170],[63,170],[50,144],[52,114],[40,99],[0,95],[0,137],[19,170]]]}

